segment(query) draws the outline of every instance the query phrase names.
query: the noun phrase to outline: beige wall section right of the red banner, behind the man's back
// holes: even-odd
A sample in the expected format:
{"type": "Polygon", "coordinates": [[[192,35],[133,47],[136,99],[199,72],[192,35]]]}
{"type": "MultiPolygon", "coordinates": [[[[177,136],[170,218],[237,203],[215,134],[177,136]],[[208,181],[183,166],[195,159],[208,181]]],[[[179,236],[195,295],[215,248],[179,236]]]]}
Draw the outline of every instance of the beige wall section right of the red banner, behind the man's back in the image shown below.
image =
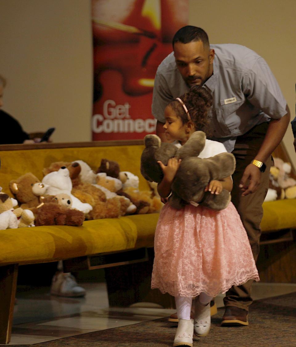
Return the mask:
{"type": "MultiPolygon", "coordinates": [[[[190,1],[189,24],[203,28],[211,43],[238,43],[270,66],[295,117],[296,1],[190,1]]],[[[291,126],[284,144],[296,167],[291,126]]]]}

